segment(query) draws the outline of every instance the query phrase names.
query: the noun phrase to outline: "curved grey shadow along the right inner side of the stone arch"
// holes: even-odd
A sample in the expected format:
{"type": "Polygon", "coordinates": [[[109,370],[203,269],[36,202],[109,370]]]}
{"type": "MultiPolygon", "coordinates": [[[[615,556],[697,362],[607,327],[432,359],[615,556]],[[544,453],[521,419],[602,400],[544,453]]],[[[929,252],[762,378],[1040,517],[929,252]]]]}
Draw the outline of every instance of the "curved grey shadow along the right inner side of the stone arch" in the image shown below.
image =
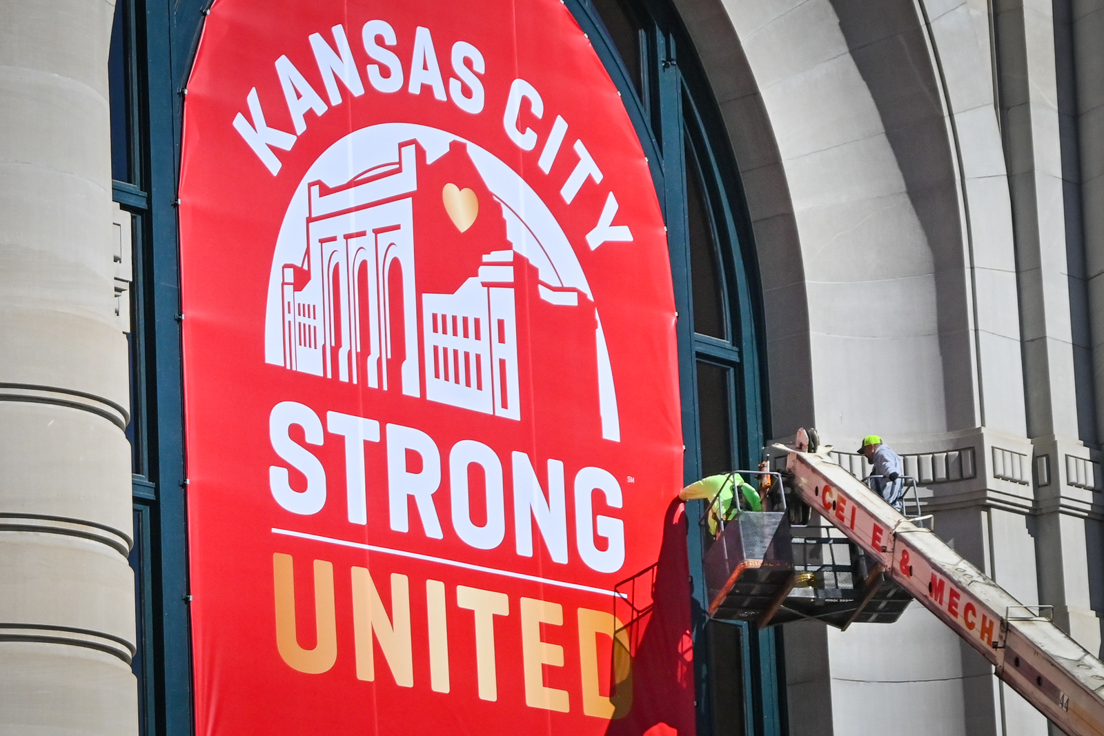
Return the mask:
{"type": "Polygon", "coordinates": [[[932,250],[947,430],[974,427],[970,319],[957,169],[942,85],[912,0],[830,0],[932,250]]]}

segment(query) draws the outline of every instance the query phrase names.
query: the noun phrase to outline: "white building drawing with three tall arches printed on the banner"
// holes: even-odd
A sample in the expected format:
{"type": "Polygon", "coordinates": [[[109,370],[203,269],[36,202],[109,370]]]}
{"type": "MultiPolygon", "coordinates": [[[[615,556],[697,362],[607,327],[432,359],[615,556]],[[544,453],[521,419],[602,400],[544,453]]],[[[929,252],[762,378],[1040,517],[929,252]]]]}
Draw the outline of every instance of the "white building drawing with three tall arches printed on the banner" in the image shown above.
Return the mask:
{"type": "MultiPolygon", "coordinates": [[[[348,184],[310,184],[305,259],[284,266],[285,367],[388,390],[386,365],[399,343],[406,355],[402,393],[421,394],[410,196],[416,171],[411,143],[400,149],[397,163],[348,184]],[[397,295],[389,291],[395,264],[397,295]],[[308,278],[299,290],[297,275],[308,278]],[[402,334],[391,333],[396,300],[402,334]]],[[[423,295],[426,397],[520,419],[513,250],[496,250],[484,262],[489,265],[456,294],[423,295]]]]}

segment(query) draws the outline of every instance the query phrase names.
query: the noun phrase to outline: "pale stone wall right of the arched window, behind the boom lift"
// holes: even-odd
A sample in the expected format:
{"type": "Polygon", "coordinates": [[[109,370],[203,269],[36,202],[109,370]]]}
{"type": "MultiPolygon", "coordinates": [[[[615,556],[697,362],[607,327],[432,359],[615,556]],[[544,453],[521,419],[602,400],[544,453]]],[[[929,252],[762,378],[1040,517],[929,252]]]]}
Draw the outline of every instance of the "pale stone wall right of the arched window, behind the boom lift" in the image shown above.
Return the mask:
{"type": "MultiPolygon", "coordinates": [[[[676,4],[747,192],[774,435],[881,434],[936,531],[1098,652],[1104,2],[676,4]]],[[[794,736],[1048,732],[919,606],[785,641],[794,736]]]]}

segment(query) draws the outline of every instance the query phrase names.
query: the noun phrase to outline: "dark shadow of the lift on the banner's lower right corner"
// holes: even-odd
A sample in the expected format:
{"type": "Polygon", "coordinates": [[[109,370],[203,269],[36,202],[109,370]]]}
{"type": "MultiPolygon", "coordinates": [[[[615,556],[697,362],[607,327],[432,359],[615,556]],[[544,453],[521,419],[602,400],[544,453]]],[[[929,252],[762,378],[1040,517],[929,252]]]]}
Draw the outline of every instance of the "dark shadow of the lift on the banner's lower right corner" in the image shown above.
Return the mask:
{"type": "MultiPolygon", "coordinates": [[[[615,711],[607,736],[694,733],[689,576],[687,516],[675,499],[664,518],[659,559],[625,582],[633,587],[629,600],[616,606],[625,626],[614,643],[609,682],[618,684],[613,687],[615,711]]],[[[624,585],[618,589],[627,589],[624,585]]]]}

